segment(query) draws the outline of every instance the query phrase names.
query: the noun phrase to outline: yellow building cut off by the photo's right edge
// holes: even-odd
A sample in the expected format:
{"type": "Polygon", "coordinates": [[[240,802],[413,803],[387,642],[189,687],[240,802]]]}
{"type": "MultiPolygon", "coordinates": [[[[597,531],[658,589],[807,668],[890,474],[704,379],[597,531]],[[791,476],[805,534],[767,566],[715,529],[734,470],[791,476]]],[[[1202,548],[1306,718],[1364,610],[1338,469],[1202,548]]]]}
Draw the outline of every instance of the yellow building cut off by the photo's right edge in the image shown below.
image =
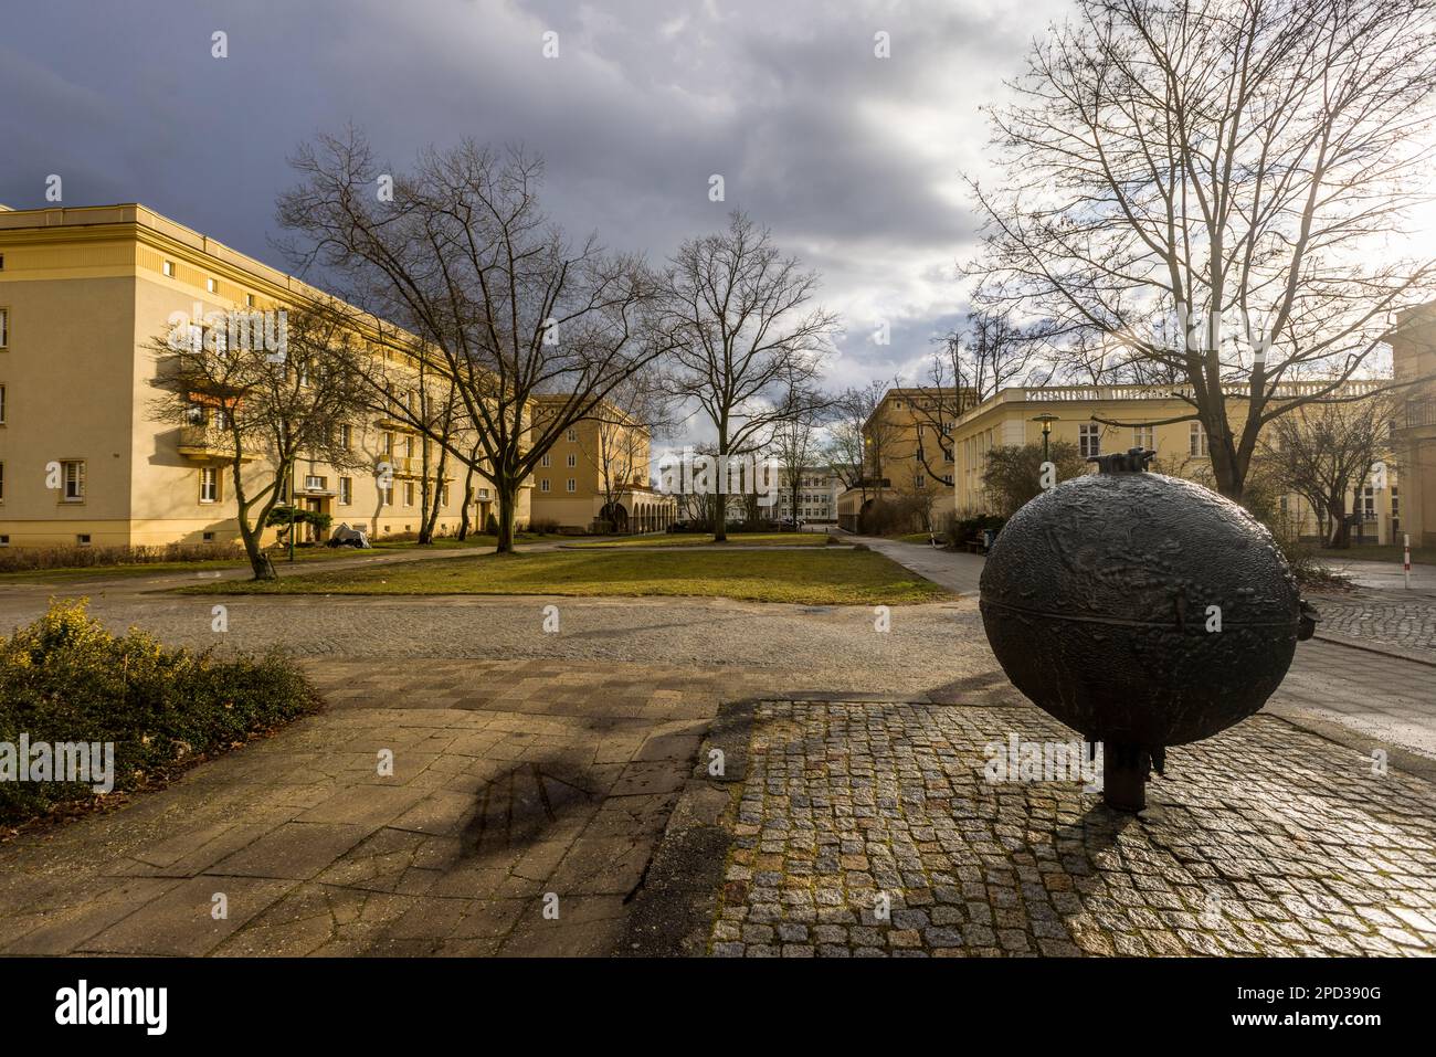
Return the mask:
{"type": "Polygon", "coordinates": [[[1402,531],[1436,547],[1436,303],[1397,315],[1386,336],[1397,381],[1412,382],[1391,434],[1402,470],[1402,531]]]}

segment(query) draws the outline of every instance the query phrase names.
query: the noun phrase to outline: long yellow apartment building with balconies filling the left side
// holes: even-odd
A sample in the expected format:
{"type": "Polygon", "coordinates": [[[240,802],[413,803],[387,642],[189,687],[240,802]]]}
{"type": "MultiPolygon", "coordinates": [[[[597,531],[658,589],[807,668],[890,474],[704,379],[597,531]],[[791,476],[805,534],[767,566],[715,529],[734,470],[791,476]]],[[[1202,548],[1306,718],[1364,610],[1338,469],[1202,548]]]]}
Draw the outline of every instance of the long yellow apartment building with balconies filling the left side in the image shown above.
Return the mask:
{"type": "MultiPolygon", "coordinates": [[[[236,540],[214,412],[197,406],[182,427],[154,419],[152,345],[174,313],[273,312],[325,297],[144,205],[0,211],[0,546],[236,540]]],[[[416,531],[422,438],[382,414],[359,419],[349,442],[360,468],[300,460],[287,491],[376,537],[416,531]],[[381,462],[392,487],[381,487],[381,462]]],[[[464,468],[448,467],[435,483],[447,493],[439,531],[458,526],[464,501],[464,468]]],[[[261,472],[260,458],[251,470],[261,472]]],[[[472,516],[482,527],[491,484],[478,484],[472,516]]],[[[524,490],[520,524],[527,506],[524,490]]]]}

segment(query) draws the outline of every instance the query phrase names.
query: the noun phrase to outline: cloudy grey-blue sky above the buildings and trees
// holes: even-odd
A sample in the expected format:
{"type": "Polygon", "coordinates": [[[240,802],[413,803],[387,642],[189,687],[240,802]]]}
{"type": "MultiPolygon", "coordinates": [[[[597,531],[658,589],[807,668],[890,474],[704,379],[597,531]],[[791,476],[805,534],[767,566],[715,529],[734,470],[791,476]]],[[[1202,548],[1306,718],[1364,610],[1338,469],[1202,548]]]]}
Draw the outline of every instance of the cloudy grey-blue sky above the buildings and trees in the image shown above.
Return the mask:
{"type": "Polygon", "coordinates": [[[523,142],[574,233],[662,261],[742,208],[823,273],[830,378],[913,376],[962,312],[961,172],[1067,0],[45,0],[0,34],[0,202],[141,201],[281,266],[286,157],[353,121],[424,145],[523,142]],[[211,56],[211,34],[228,57],[211,56]],[[557,33],[546,59],[543,34],[557,33]],[[875,56],[875,34],[890,57],[875,56]],[[708,200],[721,174],[727,201],[708,200]],[[877,317],[892,345],[873,343],[877,317]]]}

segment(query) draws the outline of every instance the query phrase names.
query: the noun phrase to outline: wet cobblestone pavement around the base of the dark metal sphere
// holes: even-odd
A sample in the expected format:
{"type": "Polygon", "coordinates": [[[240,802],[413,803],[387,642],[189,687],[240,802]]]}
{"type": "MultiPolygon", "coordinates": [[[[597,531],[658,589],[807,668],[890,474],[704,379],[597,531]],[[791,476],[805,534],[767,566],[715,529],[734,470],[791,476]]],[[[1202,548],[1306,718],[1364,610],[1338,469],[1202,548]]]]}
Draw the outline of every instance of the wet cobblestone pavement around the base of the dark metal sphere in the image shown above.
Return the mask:
{"type": "Polygon", "coordinates": [[[1436,952],[1430,783],[1255,717],[1173,750],[1133,819],[1080,781],[988,783],[1012,734],[1073,738],[1025,705],[760,705],[708,951],[1436,952]]]}

